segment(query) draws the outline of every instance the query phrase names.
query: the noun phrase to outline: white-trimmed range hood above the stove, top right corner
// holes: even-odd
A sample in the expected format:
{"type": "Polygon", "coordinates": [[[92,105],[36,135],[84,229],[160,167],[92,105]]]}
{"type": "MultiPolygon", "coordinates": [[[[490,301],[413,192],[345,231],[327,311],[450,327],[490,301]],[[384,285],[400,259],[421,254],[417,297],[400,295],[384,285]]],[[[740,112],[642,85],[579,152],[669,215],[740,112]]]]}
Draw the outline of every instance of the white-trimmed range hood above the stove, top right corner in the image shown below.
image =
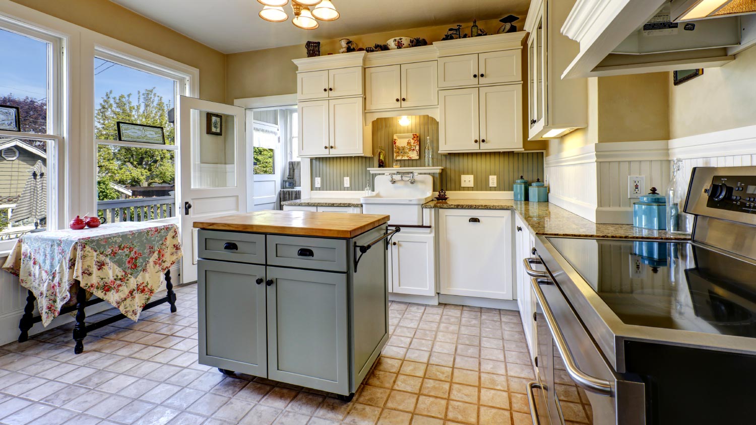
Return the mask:
{"type": "Polygon", "coordinates": [[[722,66],[756,45],[754,13],[756,0],[582,0],[562,26],[580,43],[562,79],[722,66]]]}

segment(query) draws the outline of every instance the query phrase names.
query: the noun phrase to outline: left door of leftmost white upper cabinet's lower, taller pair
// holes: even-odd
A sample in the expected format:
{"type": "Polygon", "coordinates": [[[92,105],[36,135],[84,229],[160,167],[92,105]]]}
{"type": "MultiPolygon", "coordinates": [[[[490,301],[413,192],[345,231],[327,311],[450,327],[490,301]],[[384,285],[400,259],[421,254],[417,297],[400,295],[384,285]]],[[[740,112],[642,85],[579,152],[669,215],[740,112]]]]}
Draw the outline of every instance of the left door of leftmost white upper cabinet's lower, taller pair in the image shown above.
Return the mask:
{"type": "Polygon", "coordinates": [[[299,156],[327,156],[328,100],[299,102],[297,115],[299,117],[299,156]]]}

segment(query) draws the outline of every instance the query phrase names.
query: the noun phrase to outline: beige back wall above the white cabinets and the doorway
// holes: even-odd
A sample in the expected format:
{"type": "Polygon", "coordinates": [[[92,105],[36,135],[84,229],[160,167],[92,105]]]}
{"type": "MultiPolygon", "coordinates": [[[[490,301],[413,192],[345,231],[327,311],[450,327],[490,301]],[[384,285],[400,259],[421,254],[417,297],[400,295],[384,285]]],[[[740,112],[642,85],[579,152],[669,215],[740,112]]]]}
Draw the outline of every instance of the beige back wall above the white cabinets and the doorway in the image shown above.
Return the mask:
{"type": "MultiPolygon", "coordinates": [[[[517,21],[521,26],[524,22],[524,17],[517,21]]],[[[327,23],[324,25],[327,25],[327,23]]],[[[425,38],[429,43],[432,43],[438,42],[447,29],[454,25],[399,29],[367,35],[345,35],[342,38],[351,39],[357,43],[358,48],[371,47],[376,43],[384,44],[389,38],[401,35],[425,38]]],[[[480,21],[478,26],[489,33],[494,33],[501,26],[501,23],[498,20],[484,20],[480,21]]],[[[469,23],[463,26],[462,30],[469,33],[469,23]]],[[[339,48],[341,48],[339,38],[321,40],[321,54],[323,55],[338,54],[339,48]]],[[[307,57],[305,45],[228,54],[226,102],[233,103],[234,99],[243,97],[296,93],[296,66],[292,63],[292,60],[302,57],[307,57]]]]}

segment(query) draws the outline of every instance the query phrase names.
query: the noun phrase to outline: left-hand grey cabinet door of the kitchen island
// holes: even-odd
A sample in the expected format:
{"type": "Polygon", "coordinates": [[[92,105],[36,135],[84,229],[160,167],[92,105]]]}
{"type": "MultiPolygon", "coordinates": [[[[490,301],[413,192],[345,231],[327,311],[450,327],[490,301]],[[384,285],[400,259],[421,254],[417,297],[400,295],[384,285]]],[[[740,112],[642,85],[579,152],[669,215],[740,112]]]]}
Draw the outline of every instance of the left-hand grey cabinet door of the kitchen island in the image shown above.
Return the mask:
{"type": "Polygon", "coordinates": [[[265,266],[197,260],[199,362],[268,376],[265,266]]]}

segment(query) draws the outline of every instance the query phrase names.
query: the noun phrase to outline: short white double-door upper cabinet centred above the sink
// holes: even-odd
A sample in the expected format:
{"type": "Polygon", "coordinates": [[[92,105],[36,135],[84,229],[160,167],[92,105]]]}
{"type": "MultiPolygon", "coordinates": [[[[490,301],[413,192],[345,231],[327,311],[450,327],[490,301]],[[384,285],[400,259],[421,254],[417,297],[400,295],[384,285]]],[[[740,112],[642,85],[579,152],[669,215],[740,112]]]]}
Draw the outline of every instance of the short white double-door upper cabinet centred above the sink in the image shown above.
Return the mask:
{"type": "Polygon", "coordinates": [[[435,60],[365,68],[365,109],[438,105],[435,60]]]}

